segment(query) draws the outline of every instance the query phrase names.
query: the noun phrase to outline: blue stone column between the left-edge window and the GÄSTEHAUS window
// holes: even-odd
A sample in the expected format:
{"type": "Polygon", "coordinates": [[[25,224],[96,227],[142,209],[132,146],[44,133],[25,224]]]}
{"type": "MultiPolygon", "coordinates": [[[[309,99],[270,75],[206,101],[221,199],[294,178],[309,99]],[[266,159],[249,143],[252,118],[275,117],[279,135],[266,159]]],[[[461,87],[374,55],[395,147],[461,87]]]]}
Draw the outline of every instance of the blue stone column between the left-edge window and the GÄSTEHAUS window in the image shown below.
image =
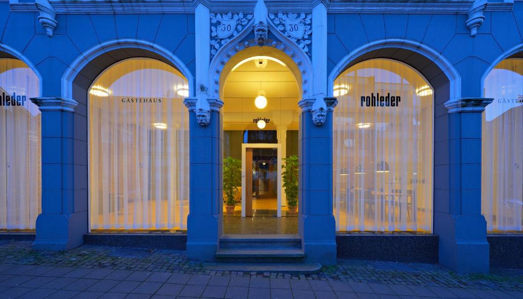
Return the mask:
{"type": "Polygon", "coordinates": [[[81,158],[86,151],[74,133],[78,103],[61,97],[31,100],[42,112],[42,213],[33,248],[69,250],[82,245],[88,231],[87,165],[81,158]]]}

